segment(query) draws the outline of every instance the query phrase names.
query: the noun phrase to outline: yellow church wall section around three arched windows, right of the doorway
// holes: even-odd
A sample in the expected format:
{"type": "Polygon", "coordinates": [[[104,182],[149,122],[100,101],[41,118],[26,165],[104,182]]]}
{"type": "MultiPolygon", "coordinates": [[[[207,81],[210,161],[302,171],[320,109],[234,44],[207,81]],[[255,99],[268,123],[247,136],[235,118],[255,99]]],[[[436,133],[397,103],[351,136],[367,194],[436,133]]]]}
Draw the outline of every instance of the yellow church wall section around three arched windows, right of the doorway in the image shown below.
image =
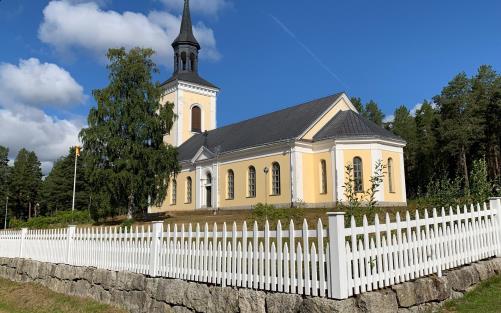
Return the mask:
{"type": "Polygon", "coordinates": [[[290,203],[290,160],[289,154],[277,154],[273,156],[260,157],[256,156],[253,159],[236,161],[233,163],[221,164],[219,166],[219,205],[225,207],[242,207],[249,208],[259,202],[270,204],[290,203]],[[278,162],[280,164],[280,189],[281,193],[278,196],[271,195],[271,164],[278,162]],[[256,197],[249,198],[247,195],[247,171],[249,166],[256,168],[256,197]],[[267,166],[268,180],[266,183],[267,192],[265,193],[265,174],[264,167],[267,166]],[[232,169],[235,174],[235,197],[233,200],[227,198],[227,173],[232,169]],[[267,194],[267,196],[266,196],[267,194]]]}

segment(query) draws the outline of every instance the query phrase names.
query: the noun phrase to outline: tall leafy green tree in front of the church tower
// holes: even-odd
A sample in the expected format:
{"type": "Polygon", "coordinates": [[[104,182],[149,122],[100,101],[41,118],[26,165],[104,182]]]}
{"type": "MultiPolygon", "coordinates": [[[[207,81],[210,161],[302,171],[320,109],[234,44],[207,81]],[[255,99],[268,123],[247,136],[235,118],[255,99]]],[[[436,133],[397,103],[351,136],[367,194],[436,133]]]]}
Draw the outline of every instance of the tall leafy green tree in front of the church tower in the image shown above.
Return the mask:
{"type": "Polygon", "coordinates": [[[175,118],[173,104],[160,104],[162,88],[152,82],[158,72],[153,53],[110,49],[109,84],[93,91],[97,107],[80,136],[94,217],[127,208],[131,218],[161,204],[170,176],[178,171],[177,151],[163,141],[175,118]]]}

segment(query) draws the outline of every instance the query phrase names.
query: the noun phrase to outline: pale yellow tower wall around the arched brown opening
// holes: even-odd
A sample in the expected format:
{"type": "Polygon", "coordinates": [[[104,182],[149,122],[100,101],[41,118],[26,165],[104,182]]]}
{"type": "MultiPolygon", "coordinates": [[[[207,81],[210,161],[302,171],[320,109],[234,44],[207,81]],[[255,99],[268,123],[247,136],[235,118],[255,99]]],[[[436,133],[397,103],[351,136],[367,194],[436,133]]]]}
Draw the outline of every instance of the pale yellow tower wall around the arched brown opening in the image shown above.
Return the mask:
{"type": "Polygon", "coordinates": [[[212,125],[210,111],[211,97],[198,93],[183,91],[183,142],[188,140],[194,133],[191,132],[191,107],[197,104],[202,110],[202,132],[215,128],[212,125]]]}

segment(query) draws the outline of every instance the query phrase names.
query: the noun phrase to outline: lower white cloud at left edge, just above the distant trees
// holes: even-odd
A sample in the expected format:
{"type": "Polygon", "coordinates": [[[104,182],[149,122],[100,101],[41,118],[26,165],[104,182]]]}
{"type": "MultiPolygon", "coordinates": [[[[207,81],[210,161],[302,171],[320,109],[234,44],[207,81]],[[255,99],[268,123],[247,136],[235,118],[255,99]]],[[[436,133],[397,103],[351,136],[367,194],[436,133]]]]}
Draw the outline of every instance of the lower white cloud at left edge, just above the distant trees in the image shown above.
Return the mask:
{"type": "Polygon", "coordinates": [[[46,175],[57,158],[78,144],[82,126],[80,121],[57,119],[32,107],[0,109],[0,144],[9,147],[11,159],[21,148],[35,151],[46,175]]]}

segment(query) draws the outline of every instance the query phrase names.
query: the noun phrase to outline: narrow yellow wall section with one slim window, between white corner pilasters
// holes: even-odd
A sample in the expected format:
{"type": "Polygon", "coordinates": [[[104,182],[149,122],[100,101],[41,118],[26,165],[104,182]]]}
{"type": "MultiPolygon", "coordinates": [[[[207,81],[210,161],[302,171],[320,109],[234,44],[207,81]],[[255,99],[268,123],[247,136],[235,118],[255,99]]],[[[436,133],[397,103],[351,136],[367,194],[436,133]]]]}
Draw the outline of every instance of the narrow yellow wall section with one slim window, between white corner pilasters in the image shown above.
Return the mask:
{"type": "Polygon", "coordinates": [[[306,203],[326,203],[333,200],[332,162],[330,152],[303,153],[303,200],[306,203]],[[321,164],[326,162],[327,193],[321,194],[321,164]]]}

